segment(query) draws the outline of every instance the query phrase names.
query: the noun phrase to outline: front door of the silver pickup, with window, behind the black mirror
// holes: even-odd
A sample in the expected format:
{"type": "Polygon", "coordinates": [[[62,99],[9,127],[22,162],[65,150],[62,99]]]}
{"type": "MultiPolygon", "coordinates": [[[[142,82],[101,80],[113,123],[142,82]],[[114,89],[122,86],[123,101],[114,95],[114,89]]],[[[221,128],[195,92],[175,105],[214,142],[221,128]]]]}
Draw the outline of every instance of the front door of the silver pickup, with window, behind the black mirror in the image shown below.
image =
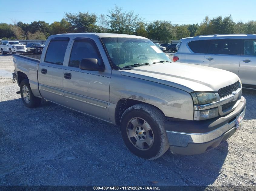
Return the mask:
{"type": "Polygon", "coordinates": [[[91,116],[109,121],[109,84],[111,73],[87,71],[79,68],[85,58],[96,58],[104,65],[94,40],[75,38],[72,43],[70,59],[64,73],[65,106],[91,116]]]}

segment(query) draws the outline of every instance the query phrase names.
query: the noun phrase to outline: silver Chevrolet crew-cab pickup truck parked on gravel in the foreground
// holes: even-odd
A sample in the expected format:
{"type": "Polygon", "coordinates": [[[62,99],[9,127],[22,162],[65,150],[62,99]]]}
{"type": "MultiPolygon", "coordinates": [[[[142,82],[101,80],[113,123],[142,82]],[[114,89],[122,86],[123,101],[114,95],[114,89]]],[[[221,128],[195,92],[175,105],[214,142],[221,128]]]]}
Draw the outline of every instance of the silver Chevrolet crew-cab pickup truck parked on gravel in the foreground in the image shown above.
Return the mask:
{"type": "Polygon", "coordinates": [[[120,125],[128,149],[146,159],[169,148],[173,154],[215,148],[241,127],[245,113],[237,75],[171,63],[144,37],[53,35],[40,61],[19,54],[13,61],[25,106],[45,99],[120,125]]]}

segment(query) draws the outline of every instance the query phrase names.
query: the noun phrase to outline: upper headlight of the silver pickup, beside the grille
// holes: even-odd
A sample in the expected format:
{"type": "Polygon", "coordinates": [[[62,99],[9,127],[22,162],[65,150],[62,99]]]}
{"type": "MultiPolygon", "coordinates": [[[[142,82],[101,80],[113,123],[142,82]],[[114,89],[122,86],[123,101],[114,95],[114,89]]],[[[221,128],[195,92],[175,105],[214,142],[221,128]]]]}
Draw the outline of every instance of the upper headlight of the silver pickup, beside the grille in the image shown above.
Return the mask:
{"type": "Polygon", "coordinates": [[[191,93],[191,96],[195,105],[201,105],[217,101],[215,93],[212,92],[194,92],[191,93]]]}

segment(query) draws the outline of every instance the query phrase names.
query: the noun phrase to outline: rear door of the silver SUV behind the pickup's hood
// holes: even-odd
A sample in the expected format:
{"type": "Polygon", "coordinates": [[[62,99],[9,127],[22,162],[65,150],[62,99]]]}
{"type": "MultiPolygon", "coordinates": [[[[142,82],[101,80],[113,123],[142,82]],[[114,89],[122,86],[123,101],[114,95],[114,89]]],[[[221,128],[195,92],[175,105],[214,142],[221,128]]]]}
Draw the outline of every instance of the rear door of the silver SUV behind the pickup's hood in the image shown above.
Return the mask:
{"type": "Polygon", "coordinates": [[[204,66],[220,68],[238,75],[241,52],[241,40],[210,40],[208,52],[204,57],[204,66]]]}

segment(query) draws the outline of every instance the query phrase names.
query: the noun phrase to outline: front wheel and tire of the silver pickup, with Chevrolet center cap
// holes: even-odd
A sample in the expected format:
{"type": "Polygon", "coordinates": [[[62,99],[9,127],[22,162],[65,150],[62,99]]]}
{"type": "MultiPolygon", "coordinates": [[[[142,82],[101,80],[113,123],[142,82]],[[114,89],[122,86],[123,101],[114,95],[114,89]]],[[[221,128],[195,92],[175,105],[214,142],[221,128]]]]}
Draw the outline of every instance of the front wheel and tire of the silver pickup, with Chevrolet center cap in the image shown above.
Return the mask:
{"type": "Polygon", "coordinates": [[[154,106],[141,103],[129,107],[120,123],[125,145],[138,157],[149,160],[161,157],[170,146],[165,121],[163,113],[154,106]]]}

